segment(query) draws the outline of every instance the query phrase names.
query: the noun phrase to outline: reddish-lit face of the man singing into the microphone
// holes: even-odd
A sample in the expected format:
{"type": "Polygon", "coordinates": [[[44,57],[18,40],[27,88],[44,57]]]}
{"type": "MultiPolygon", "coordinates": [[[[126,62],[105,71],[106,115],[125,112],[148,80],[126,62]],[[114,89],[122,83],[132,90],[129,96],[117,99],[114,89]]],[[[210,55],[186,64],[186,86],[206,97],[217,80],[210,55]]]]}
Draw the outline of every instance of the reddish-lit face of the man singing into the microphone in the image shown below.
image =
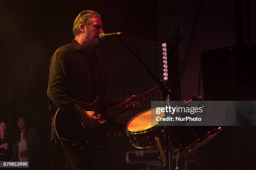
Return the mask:
{"type": "Polygon", "coordinates": [[[100,33],[102,30],[102,22],[99,17],[91,18],[88,25],[85,25],[85,38],[90,45],[97,45],[100,41],[100,33]]]}

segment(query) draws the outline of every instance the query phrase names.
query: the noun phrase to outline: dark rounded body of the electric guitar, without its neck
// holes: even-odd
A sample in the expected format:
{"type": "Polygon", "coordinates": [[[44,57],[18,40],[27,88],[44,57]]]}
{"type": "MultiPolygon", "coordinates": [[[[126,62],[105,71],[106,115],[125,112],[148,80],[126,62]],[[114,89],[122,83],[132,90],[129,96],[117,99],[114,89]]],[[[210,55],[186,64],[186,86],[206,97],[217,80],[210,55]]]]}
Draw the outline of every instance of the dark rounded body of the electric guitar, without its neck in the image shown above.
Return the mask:
{"type": "MultiPolygon", "coordinates": [[[[92,104],[76,101],[84,110],[95,111],[100,114],[109,109],[109,95],[100,95],[92,104]]],[[[61,145],[74,156],[81,158],[92,157],[97,153],[103,142],[108,127],[113,123],[113,118],[103,122],[96,130],[83,125],[80,118],[60,109],[54,115],[54,134],[61,145]]]]}

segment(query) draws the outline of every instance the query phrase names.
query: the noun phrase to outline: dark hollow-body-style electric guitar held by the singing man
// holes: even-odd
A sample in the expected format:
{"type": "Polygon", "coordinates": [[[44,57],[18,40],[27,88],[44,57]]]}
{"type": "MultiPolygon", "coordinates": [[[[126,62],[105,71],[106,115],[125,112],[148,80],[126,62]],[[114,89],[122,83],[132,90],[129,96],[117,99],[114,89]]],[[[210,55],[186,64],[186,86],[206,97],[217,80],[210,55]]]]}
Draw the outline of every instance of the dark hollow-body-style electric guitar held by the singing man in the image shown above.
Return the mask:
{"type": "MultiPolygon", "coordinates": [[[[171,87],[168,81],[164,85],[171,87]]],[[[58,109],[54,115],[53,127],[56,139],[61,143],[63,148],[76,157],[88,158],[97,153],[103,142],[108,127],[114,121],[114,116],[133,107],[133,101],[140,102],[161,91],[161,86],[157,86],[137,95],[132,100],[123,102],[115,107],[108,107],[110,96],[102,94],[98,96],[92,104],[75,101],[84,110],[93,110],[100,114],[100,126],[92,130],[83,125],[80,118],[58,109]]]]}

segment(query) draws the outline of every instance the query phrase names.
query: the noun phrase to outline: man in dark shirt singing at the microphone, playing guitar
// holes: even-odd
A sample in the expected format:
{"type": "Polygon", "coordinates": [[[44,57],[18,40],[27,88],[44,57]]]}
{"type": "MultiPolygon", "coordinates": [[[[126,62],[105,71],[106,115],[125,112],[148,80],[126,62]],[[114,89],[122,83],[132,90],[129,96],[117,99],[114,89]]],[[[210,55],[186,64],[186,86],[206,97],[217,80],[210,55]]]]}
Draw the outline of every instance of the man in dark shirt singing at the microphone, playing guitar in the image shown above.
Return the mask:
{"type": "MultiPolygon", "coordinates": [[[[51,58],[47,95],[56,107],[74,116],[91,129],[100,124],[100,115],[84,110],[74,101],[92,103],[97,96],[106,94],[106,74],[100,53],[95,49],[102,30],[100,15],[84,10],[74,21],[74,40],[59,47],[51,58]]],[[[131,99],[131,97],[129,98],[131,99]]],[[[116,102],[109,103],[110,107],[116,102]]],[[[74,132],[75,133],[75,132],[74,132]]],[[[53,133],[52,133],[53,134],[53,133]]],[[[51,135],[51,139],[54,136],[51,135]]],[[[91,158],[81,159],[65,151],[68,168],[73,170],[95,169],[91,158]],[[70,165],[70,166],[69,166],[70,165]]]]}

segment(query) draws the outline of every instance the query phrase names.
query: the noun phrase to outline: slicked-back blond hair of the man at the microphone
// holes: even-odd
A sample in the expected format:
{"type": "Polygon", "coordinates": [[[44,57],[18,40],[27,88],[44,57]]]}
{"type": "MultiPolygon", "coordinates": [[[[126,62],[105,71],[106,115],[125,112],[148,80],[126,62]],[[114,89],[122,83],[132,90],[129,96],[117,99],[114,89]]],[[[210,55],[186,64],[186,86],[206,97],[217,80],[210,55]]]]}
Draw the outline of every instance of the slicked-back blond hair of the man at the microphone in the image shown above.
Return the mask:
{"type": "Polygon", "coordinates": [[[85,24],[87,25],[90,22],[91,18],[95,18],[95,17],[99,17],[100,15],[99,13],[93,11],[93,10],[83,10],[81,13],[79,13],[77,15],[77,18],[74,21],[74,25],[73,25],[73,35],[79,35],[81,34],[81,30],[79,29],[79,25],[80,24],[85,24]]]}

